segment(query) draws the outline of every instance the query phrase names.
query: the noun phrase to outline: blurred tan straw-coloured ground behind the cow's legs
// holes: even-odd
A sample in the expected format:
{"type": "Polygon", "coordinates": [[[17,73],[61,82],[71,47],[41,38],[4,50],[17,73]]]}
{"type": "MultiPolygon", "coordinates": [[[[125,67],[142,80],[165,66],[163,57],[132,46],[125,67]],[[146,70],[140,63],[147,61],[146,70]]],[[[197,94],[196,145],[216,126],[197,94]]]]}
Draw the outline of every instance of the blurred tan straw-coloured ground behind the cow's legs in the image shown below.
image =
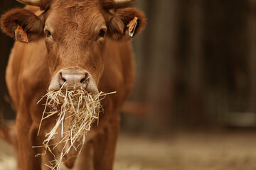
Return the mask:
{"type": "MultiPolygon", "coordinates": [[[[16,169],[0,141],[0,170],[16,169]]],[[[256,131],[186,131],[165,137],[121,134],[114,170],[256,170],[256,131]]]]}

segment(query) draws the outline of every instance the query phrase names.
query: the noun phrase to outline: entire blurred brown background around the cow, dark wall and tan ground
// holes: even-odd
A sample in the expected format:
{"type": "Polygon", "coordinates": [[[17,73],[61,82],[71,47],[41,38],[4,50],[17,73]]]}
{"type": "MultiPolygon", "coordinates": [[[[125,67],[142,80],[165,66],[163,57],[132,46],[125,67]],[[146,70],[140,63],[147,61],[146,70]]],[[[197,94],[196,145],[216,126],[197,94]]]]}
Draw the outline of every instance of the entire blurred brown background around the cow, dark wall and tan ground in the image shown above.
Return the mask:
{"type": "MultiPolygon", "coordinates": [[[[1,14],[14,6],[21,4],[1,0],[1,14]]],[[[132,42],[137,78],[122,109],[119,169],[256,169],[256,1],[139,0],[133,6],[148,23],[132,42]]],[[[0,33],[7,119],[15,118],[4,80],[13,42],[0,33]]]]}

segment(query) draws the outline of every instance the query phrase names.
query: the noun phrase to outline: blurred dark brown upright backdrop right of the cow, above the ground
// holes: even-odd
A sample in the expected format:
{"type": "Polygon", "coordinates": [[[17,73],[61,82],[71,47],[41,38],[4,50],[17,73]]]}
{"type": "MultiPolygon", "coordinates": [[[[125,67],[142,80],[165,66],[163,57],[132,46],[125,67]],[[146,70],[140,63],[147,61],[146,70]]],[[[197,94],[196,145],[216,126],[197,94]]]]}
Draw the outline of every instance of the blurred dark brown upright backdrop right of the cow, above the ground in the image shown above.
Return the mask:
{"type": "Polygon", "coordinates": [[[149,110],[124,114],[124,129],[226,127],[235,126],[234,118],[255,118],[255,1],[144,0],[136,6],[148,25],[134,41],[137,84],[130,100],[149,110]]]}

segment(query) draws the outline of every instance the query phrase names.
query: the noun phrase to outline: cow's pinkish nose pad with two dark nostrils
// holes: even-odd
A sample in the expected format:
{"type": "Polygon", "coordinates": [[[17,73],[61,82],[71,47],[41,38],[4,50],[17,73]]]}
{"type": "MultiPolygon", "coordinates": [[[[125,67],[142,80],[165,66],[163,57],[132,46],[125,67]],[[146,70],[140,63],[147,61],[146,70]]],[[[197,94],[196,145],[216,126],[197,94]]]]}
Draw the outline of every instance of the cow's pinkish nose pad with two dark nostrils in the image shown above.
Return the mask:
{"type": "Polygon", "coordinates": [[[73,89],[75,86],[86,85],[90,80],[89,75],[85,73],[60,72],[60,81],[63,81],[63,89],[73,89]]]}

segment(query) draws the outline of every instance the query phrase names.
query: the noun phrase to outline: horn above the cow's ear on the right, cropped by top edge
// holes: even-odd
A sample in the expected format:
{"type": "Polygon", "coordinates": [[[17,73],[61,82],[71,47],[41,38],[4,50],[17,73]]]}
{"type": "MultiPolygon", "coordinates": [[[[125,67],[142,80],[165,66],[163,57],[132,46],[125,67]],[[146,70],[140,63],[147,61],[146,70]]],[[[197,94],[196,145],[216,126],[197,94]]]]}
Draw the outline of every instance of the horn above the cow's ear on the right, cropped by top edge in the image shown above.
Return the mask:
{"type": "Polygon", "coordinates": [[[119,6],[127,6],[137,0],[101,0],[102,6],[106,9],[117,8],[119,6]]]}

